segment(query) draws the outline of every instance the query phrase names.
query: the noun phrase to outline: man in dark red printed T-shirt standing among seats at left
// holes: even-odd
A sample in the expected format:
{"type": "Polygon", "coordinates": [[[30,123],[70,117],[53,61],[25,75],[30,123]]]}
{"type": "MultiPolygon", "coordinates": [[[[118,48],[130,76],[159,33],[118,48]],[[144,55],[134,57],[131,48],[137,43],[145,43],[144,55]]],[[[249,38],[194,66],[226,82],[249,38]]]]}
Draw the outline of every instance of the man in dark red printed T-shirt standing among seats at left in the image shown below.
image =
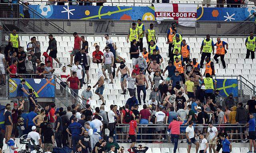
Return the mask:
{"type": "MultiPolygon", "coordinates": [[[[70,87],[72,90],[71,90],[71,94],[76,98],[78,96],[78,90],[80,89],[80,81],[78,79],[78,77],[76,77],[76,72],[73,71],[72,73],[72,77],[69,77],[67,79],[67,84],[68,84],[68,87],[70,87]],[[68,83],[70,82],[70,83],[68,83]]],[[[72,104],[75,104],[75,99],[72,98],[72,104]]]]}

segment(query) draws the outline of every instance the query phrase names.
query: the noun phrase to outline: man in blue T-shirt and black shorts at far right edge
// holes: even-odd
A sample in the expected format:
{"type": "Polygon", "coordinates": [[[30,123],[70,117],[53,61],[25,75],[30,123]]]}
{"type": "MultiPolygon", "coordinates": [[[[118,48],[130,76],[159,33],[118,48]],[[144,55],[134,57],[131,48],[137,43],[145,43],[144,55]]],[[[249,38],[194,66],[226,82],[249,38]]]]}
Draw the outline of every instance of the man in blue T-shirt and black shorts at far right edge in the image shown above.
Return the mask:
{"type": "MultiPolygon", "coordinates": [[[[255,143],[255,118],[253,116],[252,113],[250,113],[250,120],[248,121],[248,123],[245,124],[244,127],[249,126],[249,137],[248,139],[250,139],[250,151],[248,153],[252,153],[252,144],[253,147],[256,148],[256,143],[255,143]]],[[[255,152],[255,149],[254,149],[255,152]]]]}

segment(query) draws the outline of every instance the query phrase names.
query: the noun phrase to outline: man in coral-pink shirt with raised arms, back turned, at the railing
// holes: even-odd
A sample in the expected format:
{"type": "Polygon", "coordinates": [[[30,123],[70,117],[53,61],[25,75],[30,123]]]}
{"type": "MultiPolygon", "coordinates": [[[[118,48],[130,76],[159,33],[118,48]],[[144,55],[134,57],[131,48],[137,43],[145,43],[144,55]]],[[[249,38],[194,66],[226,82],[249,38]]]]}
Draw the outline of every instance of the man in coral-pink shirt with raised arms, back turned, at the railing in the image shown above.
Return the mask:
{"type": "Polygon", "coordinates": [[[173,118],[172,122],[168,126],[168,129],[171,130],[171,141],[174,143],[174,149],[173,152],[176,153],[176,149],[178,147],[178,140],[180,137],[180,125],[184,123],[182,118],[178,117],[180,121],[177,121],[177,118],[173,118]]]}

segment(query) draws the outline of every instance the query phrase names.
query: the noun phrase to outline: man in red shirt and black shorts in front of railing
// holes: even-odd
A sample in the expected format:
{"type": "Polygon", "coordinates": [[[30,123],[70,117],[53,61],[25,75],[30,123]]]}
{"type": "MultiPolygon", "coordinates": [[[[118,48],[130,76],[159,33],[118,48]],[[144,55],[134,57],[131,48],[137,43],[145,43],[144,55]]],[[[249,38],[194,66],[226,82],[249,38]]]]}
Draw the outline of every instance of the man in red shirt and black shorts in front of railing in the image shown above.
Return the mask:
{"type": "Polygon", "coordinates": [[[130,145],[129,149],[127,150],[129,153],[132,153],[131,148],[135,146],[136,143],[136,133],[139,131],[137,124],[140,122],[140,118],[136,116],[134,120],[130,122],[129,128],[129,137],[132,140],[132,144],[130,145]]]}

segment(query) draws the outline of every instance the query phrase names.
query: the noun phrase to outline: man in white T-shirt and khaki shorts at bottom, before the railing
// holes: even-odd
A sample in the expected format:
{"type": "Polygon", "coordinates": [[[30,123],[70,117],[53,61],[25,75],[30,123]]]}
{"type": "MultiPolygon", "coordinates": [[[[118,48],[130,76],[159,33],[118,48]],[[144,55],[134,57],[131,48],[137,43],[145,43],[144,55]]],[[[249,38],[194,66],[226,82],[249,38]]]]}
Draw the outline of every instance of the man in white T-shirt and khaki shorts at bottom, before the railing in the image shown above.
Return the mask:
{"type": "Polygon", "coordinates": [[[212,153],[212,150],[216,153],[215,145],[218,129],[212,125],[212,122],[209,122],[208,126],[206,138],[209,136],[209,153],[212,153]]]}

